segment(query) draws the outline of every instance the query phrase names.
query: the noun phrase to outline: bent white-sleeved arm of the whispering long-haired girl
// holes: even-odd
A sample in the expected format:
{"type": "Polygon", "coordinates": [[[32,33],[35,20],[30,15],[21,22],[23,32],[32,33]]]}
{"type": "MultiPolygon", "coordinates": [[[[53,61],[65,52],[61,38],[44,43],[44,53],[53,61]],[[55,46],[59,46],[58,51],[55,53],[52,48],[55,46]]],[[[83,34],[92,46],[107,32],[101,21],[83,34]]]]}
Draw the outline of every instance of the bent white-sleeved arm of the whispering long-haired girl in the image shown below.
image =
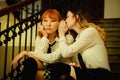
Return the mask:
{"type": "Polygon", "coordinates": [[[98,34],[96,29],[87,28],[81,32],[80,36],[71,45],[66,44],[65,36],[60,36],[59,47],[61,49],[61,55],[63,57],[72,57],[90,46],[93,46],[95,44],[94,38],[96,34],[98,34]]]}

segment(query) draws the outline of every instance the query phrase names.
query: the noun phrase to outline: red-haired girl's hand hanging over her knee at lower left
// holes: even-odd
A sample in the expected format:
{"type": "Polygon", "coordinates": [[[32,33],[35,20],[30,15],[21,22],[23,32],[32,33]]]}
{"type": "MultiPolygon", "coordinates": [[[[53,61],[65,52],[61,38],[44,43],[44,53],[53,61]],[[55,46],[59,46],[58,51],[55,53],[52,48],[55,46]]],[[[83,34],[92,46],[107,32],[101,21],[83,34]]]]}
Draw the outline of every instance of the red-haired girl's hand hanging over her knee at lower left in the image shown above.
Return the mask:
{"type": "Polygon", "coordinates": [[[22,51],[20,54],[18,54],[12,61],[12,65],[15,67],[18,64],[18,61],[22,59],[25,55],[27,56],[28,51],[22,51]]]}

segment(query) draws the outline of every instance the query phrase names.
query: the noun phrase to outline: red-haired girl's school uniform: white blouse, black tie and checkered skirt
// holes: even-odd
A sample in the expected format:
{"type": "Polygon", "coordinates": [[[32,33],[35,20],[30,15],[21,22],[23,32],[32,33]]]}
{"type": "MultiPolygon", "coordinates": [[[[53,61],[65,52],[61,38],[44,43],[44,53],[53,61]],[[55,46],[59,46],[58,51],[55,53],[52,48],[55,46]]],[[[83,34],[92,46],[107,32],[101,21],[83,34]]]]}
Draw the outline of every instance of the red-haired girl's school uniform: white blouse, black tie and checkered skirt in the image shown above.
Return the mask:
{"type": "MultiPolygon", "coordinates": [[[[74,40],[72,35],[69,34],[66,35],[66,39],[68,45],[71,44],[74,40]]],[[[45,80],[50,79],[51,63],[63,62],[69,64],[71,62],[76,62],[77,60],[76,59],[77,57],[63,58],[61,56],[58,37],[55,38],[55,41],[53,43],[49,43],[49,40],[46,37],[40,38],[39,36],[37,36],[35,43],[35,51],[31,53],[43,62],[44,70],[45,70],[45,75],[44,75],[45,80]],[[49,48],[50,48],[50,52],[49,52],[49,48]]]]}

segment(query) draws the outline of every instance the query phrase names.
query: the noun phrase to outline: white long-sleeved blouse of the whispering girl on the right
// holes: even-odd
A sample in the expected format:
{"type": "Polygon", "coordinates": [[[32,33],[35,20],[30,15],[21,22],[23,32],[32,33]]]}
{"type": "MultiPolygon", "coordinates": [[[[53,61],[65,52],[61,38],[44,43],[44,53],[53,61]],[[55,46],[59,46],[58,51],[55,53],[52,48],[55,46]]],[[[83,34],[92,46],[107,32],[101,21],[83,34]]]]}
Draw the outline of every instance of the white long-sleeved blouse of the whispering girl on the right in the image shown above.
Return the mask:
{"type": "Polygon", "coordinates": [[[106,47],[95,28],[84,29],[71,45],[66,44],[66,38],[61,36],[59,47],[64,58],[81,53],[87,68],[105,68],[110,70],[106,47]]]}

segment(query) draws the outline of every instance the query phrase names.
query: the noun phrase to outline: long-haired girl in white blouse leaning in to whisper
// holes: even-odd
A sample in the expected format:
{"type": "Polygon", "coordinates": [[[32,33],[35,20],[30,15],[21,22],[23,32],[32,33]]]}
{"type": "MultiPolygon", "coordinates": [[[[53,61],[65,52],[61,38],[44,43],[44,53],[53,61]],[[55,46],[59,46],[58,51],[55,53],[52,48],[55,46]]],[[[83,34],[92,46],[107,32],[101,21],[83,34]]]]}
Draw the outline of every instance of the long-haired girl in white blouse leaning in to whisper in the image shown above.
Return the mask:
{"type": "MultiPolygon", "coordinates": [[[[74,67],[76,72],[74,78],[77,80],[112,79],[105,47],[105,32],[99,26],[89,23],[80,10],[69,9],[66,19],[60,22],[58,31],[60,40],[59,48],[61,48],[62,57],[69,58],[80,54],[85,64],[86,68],[84,69],[81,68],[82,66],[74,67]],[[73,30],[77,35],[75,36],[75,41],[68,45],[65,33],[70,30],[73,30]]],[[[52,69],[53,79],[56,78],[57,74],[55,73],[56,71],[59,72],[60,65],[68,67],[66,64],[56,63],[57,67],[55,66],[52,69]]],[[[71,65],[76,66],[77,64],[71,65]]]]}

